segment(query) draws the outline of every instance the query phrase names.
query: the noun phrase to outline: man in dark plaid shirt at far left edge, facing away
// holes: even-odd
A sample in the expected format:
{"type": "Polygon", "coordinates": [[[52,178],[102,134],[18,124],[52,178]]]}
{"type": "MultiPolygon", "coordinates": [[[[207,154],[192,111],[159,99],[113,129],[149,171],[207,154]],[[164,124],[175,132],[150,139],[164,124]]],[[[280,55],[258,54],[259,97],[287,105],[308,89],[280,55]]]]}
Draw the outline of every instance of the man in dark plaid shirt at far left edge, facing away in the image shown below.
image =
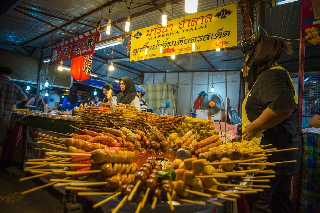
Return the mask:
{"type": "Polygon", "coordinates": [[[4,145],[7,141],[8,125],[15,101],[27,101],[28,98],[21,87],[13,83],[10,78],[12,70],[8,67],[0,67],[0,160],[4,145]]]}

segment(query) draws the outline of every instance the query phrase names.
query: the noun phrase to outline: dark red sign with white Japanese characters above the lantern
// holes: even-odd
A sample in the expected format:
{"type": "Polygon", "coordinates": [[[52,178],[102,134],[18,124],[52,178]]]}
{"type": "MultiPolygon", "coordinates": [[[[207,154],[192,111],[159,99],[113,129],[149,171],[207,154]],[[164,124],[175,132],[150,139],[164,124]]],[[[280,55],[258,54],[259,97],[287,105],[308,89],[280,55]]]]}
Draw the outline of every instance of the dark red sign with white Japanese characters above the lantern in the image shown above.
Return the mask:
{"type": "Polygon", "coordinates": [[[97,31],[94,29],[52,48],[50,64],[94,53],[97,31]]]}

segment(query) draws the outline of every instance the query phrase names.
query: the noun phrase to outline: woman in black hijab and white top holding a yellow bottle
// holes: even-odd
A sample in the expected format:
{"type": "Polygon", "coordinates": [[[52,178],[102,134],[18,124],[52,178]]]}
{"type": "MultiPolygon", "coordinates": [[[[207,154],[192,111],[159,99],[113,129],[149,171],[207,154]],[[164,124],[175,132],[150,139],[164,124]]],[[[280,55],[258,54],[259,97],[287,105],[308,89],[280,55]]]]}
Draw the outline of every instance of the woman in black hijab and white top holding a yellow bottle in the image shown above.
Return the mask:
{"type": "Polygon", "coordinates": [[[108,98],[110,108],[115,110],[116,107],[125,107],[125,105],[133,105],[140,110],[140,100],[136,93],[136,87],[130,77],[122,77],[120,79],[121,93],[116,96],[116,101],[113,103],[112,96],[108,98]]]}

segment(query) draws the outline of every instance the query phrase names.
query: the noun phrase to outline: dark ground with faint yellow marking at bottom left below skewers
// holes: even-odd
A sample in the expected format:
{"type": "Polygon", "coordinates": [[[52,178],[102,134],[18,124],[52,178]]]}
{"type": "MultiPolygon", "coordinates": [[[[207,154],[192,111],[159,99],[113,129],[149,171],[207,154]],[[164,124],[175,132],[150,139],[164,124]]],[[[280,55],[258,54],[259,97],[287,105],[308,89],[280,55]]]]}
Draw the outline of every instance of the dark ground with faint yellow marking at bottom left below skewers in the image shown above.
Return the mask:
{"type": "MultiPolygon", "coordinates": [[[[27,176],[31,175],[27,173],[27,176]]],[[[100,208],[93,210],[92,202],[84,197],[77,196],[77,202],[83,206],[83,210],[73,209],[68,211],[62,200],[67,199],[51,186],[44,189],[21,195],[19,192],[42,186],[45,183],[39,179],[31,179],[20,182],[18,178],[8,175],[4,169],[0,169],[0,212],[1,213],[64,213],[64,212],[94,212],[101,213],[100,208]]],[[[67,191],[68,193],[68,191],[67,191]]],[[[68,194],[67,194],[68,197],[68,194]]],[[[70,210],[70,209],[69,209],[70,210]]]]}

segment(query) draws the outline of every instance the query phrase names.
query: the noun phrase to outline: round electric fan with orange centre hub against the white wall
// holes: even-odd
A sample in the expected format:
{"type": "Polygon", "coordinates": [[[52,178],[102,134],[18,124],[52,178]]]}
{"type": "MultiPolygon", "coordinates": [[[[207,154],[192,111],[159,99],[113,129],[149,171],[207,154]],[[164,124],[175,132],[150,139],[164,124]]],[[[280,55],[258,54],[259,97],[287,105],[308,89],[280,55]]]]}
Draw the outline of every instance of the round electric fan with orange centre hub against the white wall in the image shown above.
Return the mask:
{"type": "Polygon", "coordinates": [[[204,115],[208,116],[208,120],[211,121],[211,117],[219,115],[224,109],[223,99],[217,93],[208,92],[199,100],[199,108],[204,115]]]}

